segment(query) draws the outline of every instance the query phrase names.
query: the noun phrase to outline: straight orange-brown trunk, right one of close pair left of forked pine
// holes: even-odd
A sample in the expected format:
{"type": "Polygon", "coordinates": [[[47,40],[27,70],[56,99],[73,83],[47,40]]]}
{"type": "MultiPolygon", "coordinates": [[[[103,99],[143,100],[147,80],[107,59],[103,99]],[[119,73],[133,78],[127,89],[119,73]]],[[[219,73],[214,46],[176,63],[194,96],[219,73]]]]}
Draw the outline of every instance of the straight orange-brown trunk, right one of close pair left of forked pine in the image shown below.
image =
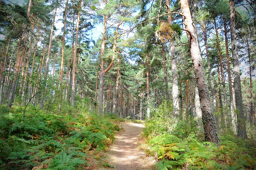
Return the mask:
{"type": "Polygon", "coordinates": [[[77,44],[78,44],[78,32],[79,32],[79,21],[80,21],[80,13],[81,13],[81,3],[80,0],[78,5],[78,16],[76,22],[76,42],[74,47],[74,56],[73,56],[73,72],[72,72],[72,92],[71,92],[71,106],[75,104],[75,88],[76,88],[76,52],[77,52],[77,44]]]}

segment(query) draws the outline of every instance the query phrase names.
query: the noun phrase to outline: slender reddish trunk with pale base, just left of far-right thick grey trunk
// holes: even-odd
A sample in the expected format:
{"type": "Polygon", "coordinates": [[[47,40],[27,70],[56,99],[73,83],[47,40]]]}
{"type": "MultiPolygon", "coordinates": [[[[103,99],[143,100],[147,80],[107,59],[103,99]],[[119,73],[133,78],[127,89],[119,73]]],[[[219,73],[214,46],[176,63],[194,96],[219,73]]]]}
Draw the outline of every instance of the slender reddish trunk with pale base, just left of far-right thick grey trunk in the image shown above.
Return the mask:
{"type": "Polygon", "coordinates": [[[227,35],[227,27],[226,20],[224,19],[224,33],[225,33],[225,47],[226,47],[226,56],[227,56],[227,67],[228,67],[228,89],[229,89],[229,98],[230,98],[230,116],[231,116],[231,129],[236,134],[236,104],[233,96],[233,87],[232,87],[232,79],[231,79],[231,69],[230,69],[230,60],[229,60],[229,52],[228,52],[228,35],[227,35]]]}

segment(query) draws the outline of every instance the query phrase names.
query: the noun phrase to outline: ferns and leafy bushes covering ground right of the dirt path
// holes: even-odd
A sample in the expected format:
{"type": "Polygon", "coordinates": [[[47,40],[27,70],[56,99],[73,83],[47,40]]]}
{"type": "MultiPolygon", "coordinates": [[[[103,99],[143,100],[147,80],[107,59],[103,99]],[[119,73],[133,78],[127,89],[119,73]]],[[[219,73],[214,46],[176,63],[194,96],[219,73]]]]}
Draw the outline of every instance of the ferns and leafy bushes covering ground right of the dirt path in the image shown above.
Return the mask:
{"type": "Polygon", "coordinates": [[[146,120],[143,132],[143,147],[146,154],[156,158],[159,170],[256,170],[254,139],[220,134],[218,147],[204,141],[194,120],[173,123],[174,118],[167,113],[160,106],[152,119],[146,120]]]}

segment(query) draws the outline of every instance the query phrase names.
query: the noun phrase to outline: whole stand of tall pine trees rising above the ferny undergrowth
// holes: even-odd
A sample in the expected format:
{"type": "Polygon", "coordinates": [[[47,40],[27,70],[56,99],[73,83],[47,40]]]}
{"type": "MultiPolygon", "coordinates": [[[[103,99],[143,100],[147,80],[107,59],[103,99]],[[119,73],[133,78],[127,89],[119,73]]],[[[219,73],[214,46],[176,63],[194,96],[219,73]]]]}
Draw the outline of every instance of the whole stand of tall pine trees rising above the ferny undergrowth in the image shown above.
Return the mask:
{"type": "Polygon", "coordinates": [[[168,103],[171,113],[160,116],[174,125],[195,119],[210,142],[219,145],[218,132],[229,130],[246,138],[256,124],[254,7],[232,0],[0,1],[0,104],[59,114],[87,104],[99,116],[145,119],[168,103]]]}

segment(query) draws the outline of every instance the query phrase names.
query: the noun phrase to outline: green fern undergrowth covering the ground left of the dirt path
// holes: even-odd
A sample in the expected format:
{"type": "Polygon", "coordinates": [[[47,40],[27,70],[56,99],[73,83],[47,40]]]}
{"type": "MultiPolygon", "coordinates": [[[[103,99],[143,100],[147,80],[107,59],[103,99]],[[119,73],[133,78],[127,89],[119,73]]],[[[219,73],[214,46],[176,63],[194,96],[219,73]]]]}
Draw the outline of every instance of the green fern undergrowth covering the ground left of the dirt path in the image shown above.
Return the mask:
{"type": "Polygon", "coordinates": [[[20,107],[0,112],[0,169],[74,170],[90,166],[90,150],[106,150],[118,120],[89,113],[66,116],[20,107]]]}

